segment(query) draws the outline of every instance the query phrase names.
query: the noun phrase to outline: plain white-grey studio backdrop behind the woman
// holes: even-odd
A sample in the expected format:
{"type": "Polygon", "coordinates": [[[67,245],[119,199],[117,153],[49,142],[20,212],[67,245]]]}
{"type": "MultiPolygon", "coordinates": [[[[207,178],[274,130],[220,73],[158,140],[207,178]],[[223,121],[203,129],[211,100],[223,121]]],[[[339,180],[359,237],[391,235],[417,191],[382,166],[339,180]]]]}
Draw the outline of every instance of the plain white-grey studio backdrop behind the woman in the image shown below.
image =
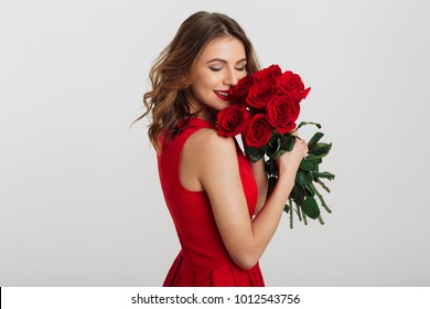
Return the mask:
{"type": "Polygon", "coordinates": [[[301,120],[333,142],[333,213],[294,230],[284,215],[266,284],[430,286],[427,1],[0,3],[0,286],[162,284],[179,242],[146,122],[129,125],[152,61],[198,10],[236,19],[264,66],[301,74],[301,120]]]}

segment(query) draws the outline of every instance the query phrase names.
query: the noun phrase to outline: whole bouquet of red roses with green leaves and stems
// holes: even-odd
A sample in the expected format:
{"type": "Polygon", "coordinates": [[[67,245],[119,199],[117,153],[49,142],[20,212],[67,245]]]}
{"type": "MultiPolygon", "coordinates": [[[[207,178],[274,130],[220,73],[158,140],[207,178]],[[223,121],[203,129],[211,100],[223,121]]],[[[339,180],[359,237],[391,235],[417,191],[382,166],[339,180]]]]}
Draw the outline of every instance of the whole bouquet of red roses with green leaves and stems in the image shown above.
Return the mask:
{"type": "MultiPolygon", "coordinates": [[[[299,126],[295,125],[300,103],[308,96],[310,89],[304,88],[298,74],[291,71],[282,73],[278,65],[271,65],[247,75],[232,87],[229,95],[234,104],[217,115],[218,135],[224,137],[241,135],[245,151],[252,162],[267,157],[265,168],[269,178],[268,195],[279,175],[275,160],[286,151],[291,151],[295,138],[299,138],[293,132],[305,125],[321,128],[321,125],[315,122],[303,121],[299,126]]],[[[291,228],[294,211],[304,224],[308,224],[307,217],[318,219],[324,224],[316,199],[331,213],[315,187],[318,183],[330,192],[322,179],[334,179],[334,174],[320,171],[322,158],[332,147],[331,143],[320,142],[323,136],[322,132],[315,132],[309,140],[309,152],[297,172],[294,187],[284,207],[284,211],[290,213],[291,228]]]]}

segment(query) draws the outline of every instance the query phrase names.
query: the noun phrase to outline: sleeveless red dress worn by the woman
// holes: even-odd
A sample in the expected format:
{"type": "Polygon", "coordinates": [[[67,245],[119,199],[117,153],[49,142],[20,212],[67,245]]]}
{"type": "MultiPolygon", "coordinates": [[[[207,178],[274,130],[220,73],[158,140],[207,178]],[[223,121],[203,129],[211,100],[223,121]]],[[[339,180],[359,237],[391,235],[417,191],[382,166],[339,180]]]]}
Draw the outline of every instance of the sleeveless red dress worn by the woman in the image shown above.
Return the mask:
{"type": "MultiPolygon", "coordinates": [[[[265,281],[258,264],[251,269],[243,269],[228,255],[206,192],[190,191],[181,184],[179,166],[182,147],[192,134],[202,128],[214,129],[214,126],[200,118],[191,118],[173,140],[162,143],[162,152],[158,156],[161,188],[181,243],[181,252],[163,286],[262,287],[265,281]]],[[[251,217],[258,191],[249,162],[238,146],[237,159],[251,217]]]]}

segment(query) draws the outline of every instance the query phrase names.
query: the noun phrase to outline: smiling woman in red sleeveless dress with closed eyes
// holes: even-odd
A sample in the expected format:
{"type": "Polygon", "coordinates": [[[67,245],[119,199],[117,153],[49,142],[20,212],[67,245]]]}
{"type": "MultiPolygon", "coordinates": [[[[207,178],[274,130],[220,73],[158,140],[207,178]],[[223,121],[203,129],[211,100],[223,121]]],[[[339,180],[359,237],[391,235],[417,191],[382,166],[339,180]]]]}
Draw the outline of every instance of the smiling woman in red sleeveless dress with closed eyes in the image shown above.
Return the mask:
{"type": "Polygon", "coordinates": [[[163,286],[264,286],[258,260],[272,237],[308,151],[297,139],[278,159],[270,196],[264,161],[251,163],[215,130],[228,89],[258,71],[241,28],[219,13],[186,19],[150,72],[149,137],[181,252],[163,286]]]}

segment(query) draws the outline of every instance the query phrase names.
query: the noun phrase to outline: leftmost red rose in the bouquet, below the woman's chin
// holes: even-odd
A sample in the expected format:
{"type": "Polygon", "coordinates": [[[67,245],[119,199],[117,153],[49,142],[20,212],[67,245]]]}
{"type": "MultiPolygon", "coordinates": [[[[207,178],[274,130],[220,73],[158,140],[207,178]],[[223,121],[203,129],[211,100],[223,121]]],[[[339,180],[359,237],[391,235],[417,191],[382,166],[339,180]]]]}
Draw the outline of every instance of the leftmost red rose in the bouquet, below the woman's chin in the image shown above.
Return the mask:
{"type": "Polygon", "coordinates": [[[233,137],[241,134],[249,117],[249,111],[241,105],[232,105],[224,108],[216,118],[218,135],[233,137]]]}

